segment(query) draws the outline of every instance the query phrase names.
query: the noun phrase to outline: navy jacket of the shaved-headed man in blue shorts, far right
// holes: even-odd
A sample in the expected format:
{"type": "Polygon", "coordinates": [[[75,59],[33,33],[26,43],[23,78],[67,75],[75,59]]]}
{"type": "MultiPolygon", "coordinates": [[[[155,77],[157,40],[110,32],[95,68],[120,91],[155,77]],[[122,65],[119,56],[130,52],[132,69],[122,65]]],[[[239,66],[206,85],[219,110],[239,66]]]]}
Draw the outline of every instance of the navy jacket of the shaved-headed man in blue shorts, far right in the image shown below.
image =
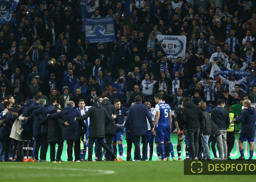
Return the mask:
{"type": "Polygon", "coordinates": [[[236,117],[236,121],[243,122],[241,127],[241,135],[247,138],[254,137],[255,134],[255,121],[256,121],[256,111],[254,108],[248,107],[244,109],[239,117],[236,117]]]}

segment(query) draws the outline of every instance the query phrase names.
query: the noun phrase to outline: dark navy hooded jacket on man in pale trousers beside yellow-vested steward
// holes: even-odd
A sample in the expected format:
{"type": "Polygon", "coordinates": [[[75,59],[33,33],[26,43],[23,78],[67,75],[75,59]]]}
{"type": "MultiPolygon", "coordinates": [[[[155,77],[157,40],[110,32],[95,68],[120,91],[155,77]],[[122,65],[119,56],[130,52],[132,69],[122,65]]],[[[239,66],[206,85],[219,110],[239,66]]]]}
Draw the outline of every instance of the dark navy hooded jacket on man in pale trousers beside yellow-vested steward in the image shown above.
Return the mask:
{"type": "Polygon", "coordinates": [[[222,107],[211,110],[211,120],[219,127],[219,130],[226,130],[230,124],[228,112],[222,107]]]}

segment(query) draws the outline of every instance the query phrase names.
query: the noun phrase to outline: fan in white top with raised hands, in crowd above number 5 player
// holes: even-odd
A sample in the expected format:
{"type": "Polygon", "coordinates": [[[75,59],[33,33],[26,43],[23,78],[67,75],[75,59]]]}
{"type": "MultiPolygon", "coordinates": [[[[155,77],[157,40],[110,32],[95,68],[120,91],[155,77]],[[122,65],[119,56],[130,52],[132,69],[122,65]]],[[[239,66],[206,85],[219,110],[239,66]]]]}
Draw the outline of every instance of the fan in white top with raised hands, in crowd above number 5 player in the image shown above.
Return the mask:
{"type": "Polygon", "coordinates": [[[142,80],[140,88],[142,88],[142,93],[145,95],[145,99],[148,102],[152,102],[153,99],[153,89],[154,89],[154,84],[157,81],[153,79],[153,77],[149,76],[148,73],[145,74],[145,79],[142,80]],[[150,78],[150,79],[149,79],[150,78]]]}

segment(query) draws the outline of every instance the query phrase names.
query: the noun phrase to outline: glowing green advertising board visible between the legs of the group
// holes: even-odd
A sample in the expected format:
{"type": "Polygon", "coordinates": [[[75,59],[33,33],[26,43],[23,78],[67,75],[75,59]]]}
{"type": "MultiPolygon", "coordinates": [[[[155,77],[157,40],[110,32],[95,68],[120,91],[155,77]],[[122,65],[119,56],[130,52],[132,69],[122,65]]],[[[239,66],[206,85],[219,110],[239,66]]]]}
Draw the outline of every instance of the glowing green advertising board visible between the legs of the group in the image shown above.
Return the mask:
{"type": "MultiPolygon", "coordinates": [[[[126,134],[124,133],[123,134],[123,138],[124,138],[124,140],[123,140],[123,160],[126,160],[126,154],[127,154],[127,143],[126,143],[125,137],[126,137],[126,134]]],[[[177,135],[175,133],[171,133],[170,137],[171,137],[171,142],[173,144],[174,155],[175,155],[176,159],[178,159],[178,154],[177,154],[177,150],[176,150],[177,143],[178,143],[177,135]]],[[[255,136],[255,138],[256,138],[256,136],[255,136]]],[[[230,158],[231,159],[236,159],[236,158],[240,157],[238,139],[239,139],[239,134],[235,134],[234,147],[233,147],[233,150],[230,153],[230,158]]],[[[244,144],[244,156],[245,156],[245,159],[248,159],[249,158],[249,149],[250,149],[249,143],[244,142],[243,144],[244,144]]],[[[255,151],[256,144],[255,144],[255,142],[253,142],[253,145],[254,145],[253,156],[254,156],[254,159],[255,159],[256,158],[256,151],[255,151]]],[[[56,145],[56,152],[57,152],[57,148],[58,148],[58,145],[56,145]]],[[[140,145],[140,148],[141,148],[141,153],[142,153],[142,144],[140,145]]],[[[183,141],[183,143],[182,143],[182,152],[181,152],[182,159],[186,159],[185,148],[186,148],[186,144],[183,141]]],[[[66,149],[67,149],[67,145],[66,145],[66,141],[65,141],[64,142],[64,147],[63,147],[63,153],[62,153],[62,157],[61,157],[61,159],[64,160],[64,161],[67,161],[66,149]]],[[[217,150],[217,156],[218,156],[217,145],[215,145],[215,149],[217,150]]],[[[213,153],[212,153],[211,148],[210,148],[210,152],[211,152],[211,158],[213,158],[213,153]]],[[[88,157],[88,148],[87,148],[87,151],[86,151],[85,159],[87,159],[87,157],[88,157]]],[[[117,146],[117,157],[119,157],[118,146],[117,146]]],[[[133,159],[133,157],[134,157],[134,145],[132,145],[132,159],[133,159]]],[[[148,146],[148,157],[149,157],[149,146],[148,146]]],[[[74,156],[73,156],[73,159],[74,159],[74,156]]],[[[92,159],[95,159],[94,148],[93,148],[92,159]]],[[[49,146],[48,152],[47,152],[47,160],[50,161],[50,146],[49,146]]],[[[155,144],[154,144],[154,152],[153,152],[152,160],[157,160],[157,152],[156,152],[156,145],[155,144]]]]}

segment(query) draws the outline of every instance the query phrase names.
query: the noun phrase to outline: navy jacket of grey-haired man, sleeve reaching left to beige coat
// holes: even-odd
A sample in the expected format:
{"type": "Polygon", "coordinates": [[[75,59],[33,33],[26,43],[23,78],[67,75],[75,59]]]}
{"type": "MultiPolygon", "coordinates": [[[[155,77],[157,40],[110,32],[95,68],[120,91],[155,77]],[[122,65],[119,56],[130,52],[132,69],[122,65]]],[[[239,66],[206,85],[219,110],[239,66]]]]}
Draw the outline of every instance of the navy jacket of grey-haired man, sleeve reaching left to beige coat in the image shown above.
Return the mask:
{"type": "Polygon", "coordinates": [[[41,119],[38,114],[35,114],[35,111],[33,111],[33,113],[29,116],[27,120],[22,122],[21,127],[24,129],[24,131],[33,130],[33,136],[39,136],[41,135],[41,125],[39,124],[41,119]],[[29,130],[31,127],[32,130],[29,130]]]}

